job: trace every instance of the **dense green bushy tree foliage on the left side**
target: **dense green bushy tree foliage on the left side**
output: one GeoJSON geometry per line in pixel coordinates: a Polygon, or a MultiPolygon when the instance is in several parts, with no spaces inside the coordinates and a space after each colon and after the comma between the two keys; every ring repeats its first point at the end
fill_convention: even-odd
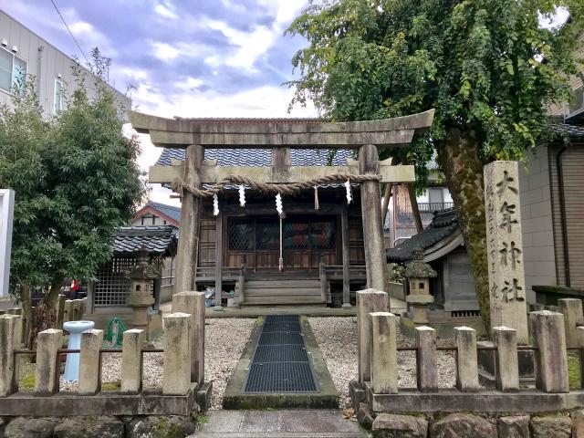
{"type": "Polygon", "coordinates": [[[97,49],[93,55],[95,83],[86,86],[86,73],[74,68],[74,91],[60,114],[43,113],[34,78],[19,84],[12,107],[0,108],[0,187],[16,191],[16,295],[21,287],[55,291],[65,277],[94,276],[144,193],[138,142],[122,134],[121,109],[103,80],[110,61],[97,49]]]}

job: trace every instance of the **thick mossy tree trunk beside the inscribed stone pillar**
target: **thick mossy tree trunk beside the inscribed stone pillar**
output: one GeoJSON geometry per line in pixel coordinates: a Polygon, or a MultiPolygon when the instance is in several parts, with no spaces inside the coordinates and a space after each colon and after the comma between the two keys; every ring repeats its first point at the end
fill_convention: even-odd
{"type": "Polygon", "coordinates": [[[436,144],[438,162],[452,194],[458,224],[473,268],[474,288],[485,330],[490,333],[489,278],[486,254],[485,183],[481,143],[474,130],[448,128],[436,144]]]}

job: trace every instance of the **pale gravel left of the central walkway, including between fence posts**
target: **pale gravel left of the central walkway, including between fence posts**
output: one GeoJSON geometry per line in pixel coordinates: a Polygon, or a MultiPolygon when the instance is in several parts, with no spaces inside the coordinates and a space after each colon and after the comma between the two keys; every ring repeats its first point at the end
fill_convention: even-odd
{"type": "MultiPolygon", "coordinates": [[[[221,409],[227,381],[233,374],[237,361],[249,339],[255,319],[248,318],[209,318],[205,323],[205,378],[213,382],[211,409],[221,409]]],[[[154,341],[154,348],[162,349],[163,335],[154,341]]],[[[110,348],[109,345],[104,345],[110,348]]],[[[144,354],[144,388],[162,387],[163,353],[144,354]]],[[[19,367],[19,381],[24,389],[26,378],[35,373],[35,365],[23,360],[19,367]]],[[[105,353],[102,356],[101,381],[110,390],[118,389],[121,379],[121,354],[105,353]]],[[[32,381],[34,385],[34,379],[32,381]]],[[[28,390],[30,391],[30,389],[28,390]]],[[[67,382],[61,377],[60,391],[77,391],[77,382],[67,382]]]]}

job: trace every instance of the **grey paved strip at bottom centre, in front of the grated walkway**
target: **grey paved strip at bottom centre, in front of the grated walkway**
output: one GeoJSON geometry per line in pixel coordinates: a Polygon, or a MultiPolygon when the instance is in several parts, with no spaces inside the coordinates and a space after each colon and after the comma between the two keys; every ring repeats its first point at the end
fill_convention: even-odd
{"type": "Polygon", "coordinates": [[[366,438],[338,410],[211,411],[192,438],[366,438]]]}

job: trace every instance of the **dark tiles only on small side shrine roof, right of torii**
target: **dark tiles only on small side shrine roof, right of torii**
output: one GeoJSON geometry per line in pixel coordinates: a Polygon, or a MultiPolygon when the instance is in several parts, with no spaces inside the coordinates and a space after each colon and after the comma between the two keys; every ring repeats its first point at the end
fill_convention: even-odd
{"type": "Polygon", "coordinates": [[[447,208],[434,212],[432,223],[422,233],[413,235],[410,239],[386,250],[387,261],[391,263],[403,263],[412,258],[414,249],[422,250],[437,244],[443,238],[458,233],[458,218],[454,208],[447,208]]]}

